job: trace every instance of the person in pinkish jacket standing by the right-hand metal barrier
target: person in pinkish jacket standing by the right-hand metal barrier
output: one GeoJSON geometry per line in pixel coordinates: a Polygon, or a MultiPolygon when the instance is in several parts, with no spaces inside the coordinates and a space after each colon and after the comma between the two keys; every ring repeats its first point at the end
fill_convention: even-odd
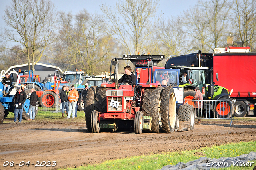
{"type": "MultiPolygon", "coordinates": [[[[194,100],[199,100],[199,101],[196,101],[195,104],[194,104],[194,108],[196,108],[196,115],[198,117],[201,117],[202,116],[202,108],[203,108],[203,94],[201,93],[201,91],[199,90],[199,87],[197,86],[196,89],[195,89],[196,93],[195,93],[195,97],[194,97],[194,100]]],[[[197,125],[201,125],[201,119],[198,119],[197,121],[197,125]]]]}

